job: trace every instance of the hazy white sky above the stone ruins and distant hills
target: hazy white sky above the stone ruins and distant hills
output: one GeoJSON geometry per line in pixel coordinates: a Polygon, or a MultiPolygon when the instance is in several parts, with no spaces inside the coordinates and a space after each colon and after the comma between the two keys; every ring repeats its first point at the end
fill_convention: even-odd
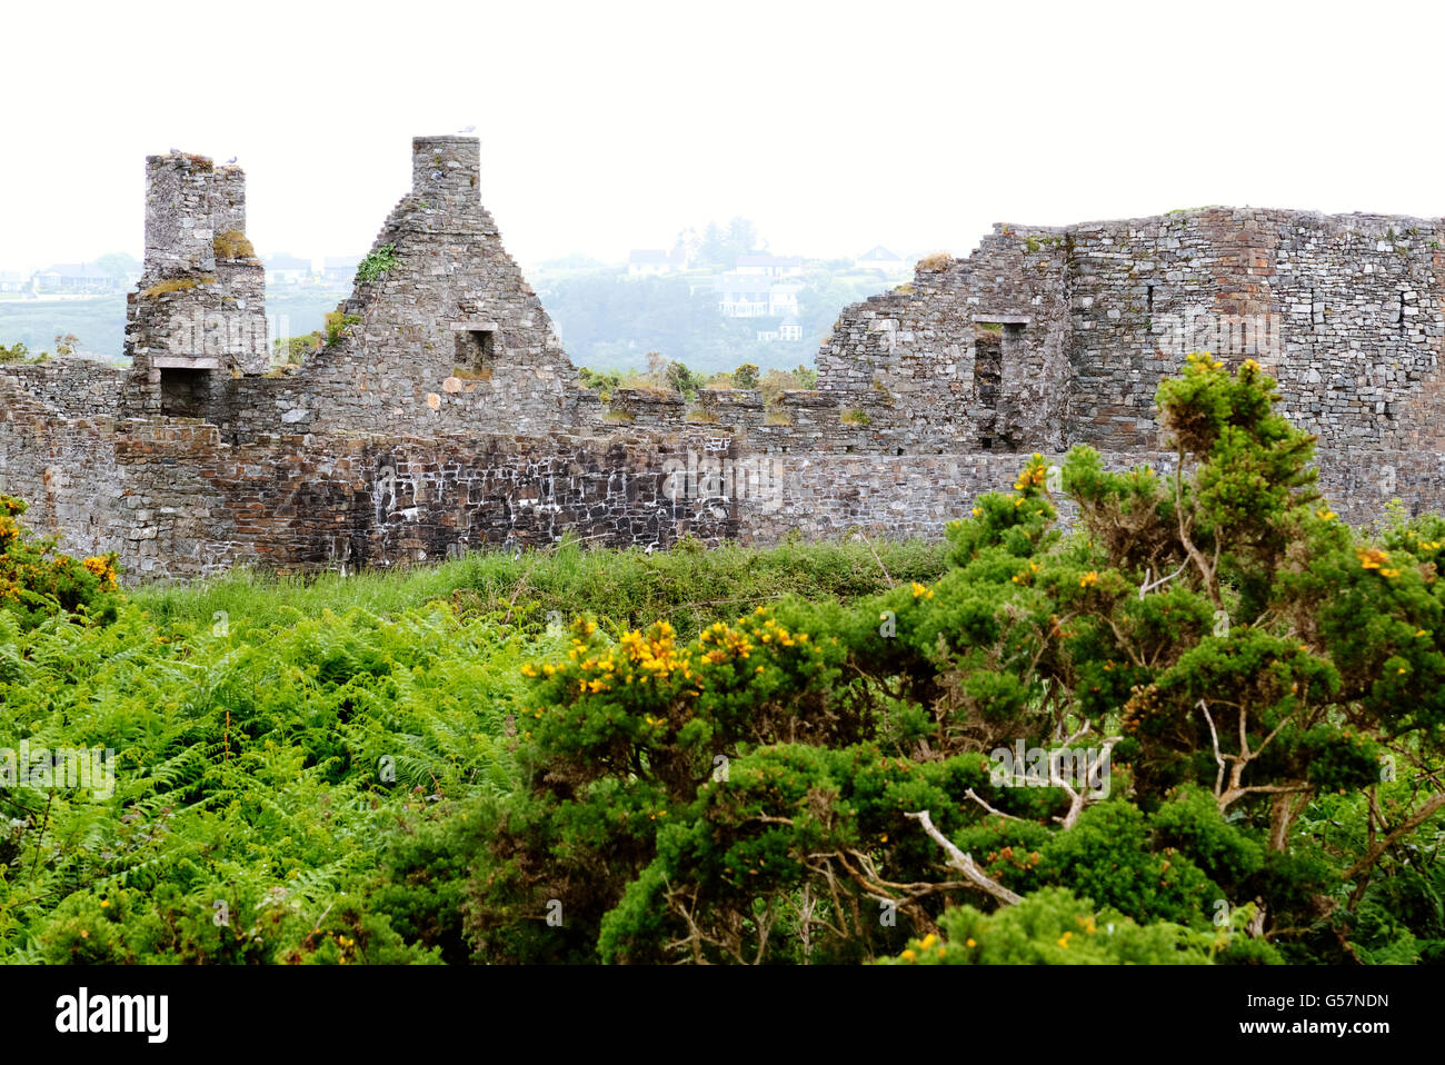
{"type": "Polygon", "coordinates": [[[523,262],[751,217],[772,250],[971,250],[1204,204],[1439,215],[1441,7],[9,4],[0,267],[142,250],[144,156],[249,175],[263,253],[360,253],[410,137],[474,124],[523,262]]]}

